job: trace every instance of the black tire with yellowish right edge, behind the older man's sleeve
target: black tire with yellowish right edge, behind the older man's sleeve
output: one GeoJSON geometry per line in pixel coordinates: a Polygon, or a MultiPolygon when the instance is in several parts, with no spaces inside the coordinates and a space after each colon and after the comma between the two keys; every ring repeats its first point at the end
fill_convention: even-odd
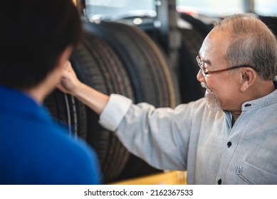
{"type": "MultiPolygon", "coordinates": [[[[85,30],[107,41],[119,55],[130,75],[135,102],[148,102],[155,107],[179,104],[177,78],[167,65],[164,54],[146,33],[123,23],[85,21],[85,30]]],[[[137,156],[130,155],[117,180],[157,173],[137,156]]]]}

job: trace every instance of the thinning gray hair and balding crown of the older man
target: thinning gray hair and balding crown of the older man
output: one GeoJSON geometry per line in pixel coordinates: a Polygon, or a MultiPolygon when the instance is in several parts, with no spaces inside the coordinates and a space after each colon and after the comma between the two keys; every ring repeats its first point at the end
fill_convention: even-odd
{"type": "Polygon", "coordinates": [[[261,20],[250,14],[236,14],[214,25],[217,31],[226,31],[229,47],[226,60],[230,67],[249,65],[263,80],[277,75],[277,41],[261,20]]]}

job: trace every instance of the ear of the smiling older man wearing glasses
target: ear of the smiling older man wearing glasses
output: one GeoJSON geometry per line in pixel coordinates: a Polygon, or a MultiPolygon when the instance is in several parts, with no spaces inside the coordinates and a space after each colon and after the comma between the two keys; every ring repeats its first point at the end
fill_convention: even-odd
{"type": "Polygon", "coordinates": [[[241,92],[244,92],[254,84],[256,80],[256,71],[253,68],[244,68],[241,73],[241,92]]]}

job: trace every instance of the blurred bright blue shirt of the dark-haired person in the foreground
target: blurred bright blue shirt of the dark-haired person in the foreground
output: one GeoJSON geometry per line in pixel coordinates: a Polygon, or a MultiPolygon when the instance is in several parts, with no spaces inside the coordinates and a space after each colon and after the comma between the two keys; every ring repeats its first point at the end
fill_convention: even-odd
{"type": "Polygon", "coordinates": [[[31,97],[0,86],[0,184],[98,184],[95,153],[31,97]]]}

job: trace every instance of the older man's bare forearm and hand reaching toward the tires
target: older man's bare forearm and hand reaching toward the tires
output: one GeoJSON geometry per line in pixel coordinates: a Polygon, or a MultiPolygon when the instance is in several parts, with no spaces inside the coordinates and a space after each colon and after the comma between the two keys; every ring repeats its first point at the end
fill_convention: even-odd
{"type": "Polygon", "coordinates": [[[83,82],[80,82],[69,61],[68,65],[66,65],[66,68],[63,70],[61,83],[57,85],[57,87],[62,92],[77,97],[97,114],[103,112],[103,109],[109,100],[108,95],[104,95],[103,93],[94,90],[92,87],[85,85],[83,82]]]}

